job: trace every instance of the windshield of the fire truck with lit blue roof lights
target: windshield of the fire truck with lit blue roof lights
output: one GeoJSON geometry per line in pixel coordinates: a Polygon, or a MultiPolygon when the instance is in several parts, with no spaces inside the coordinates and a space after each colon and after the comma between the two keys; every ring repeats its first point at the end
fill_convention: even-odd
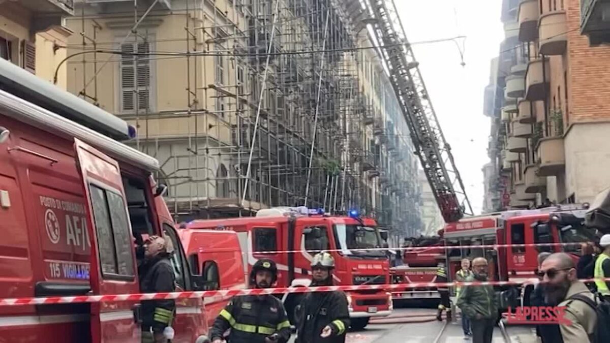
{"type": "Polygon", "coordinates": [[[361,225],[335,225],[337,244],[343,255],[385,257],[383,251],[358,251],[354,249],[381,248],[381,239],[377,229],[361,225]],[[354,250],[354,251],[353,251],[354,250]]]}

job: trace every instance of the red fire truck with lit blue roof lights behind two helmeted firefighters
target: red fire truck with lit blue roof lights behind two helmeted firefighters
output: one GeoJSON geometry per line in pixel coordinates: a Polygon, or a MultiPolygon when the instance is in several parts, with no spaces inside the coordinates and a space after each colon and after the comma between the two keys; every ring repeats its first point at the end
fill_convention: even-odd
{"type": "MultiPolygon", "coordinates": [[[[389,262],[384,251],[354,250],[379,248],[384,240],[374,220],[358,218],[357,214],[331,217],[307,208],[270,208],[260,210],[256,217],[195,220],[188,223],[188,228],[237,232],[244,269],[251,270],[258,259],[273,259],[278,264],[280,287],[309,286],[310,261],[316,251],[322,250],[331,250],[335,259],[335,284],[388,282],[389,262]]],[[[299,298],[298,294],[283,298],[292,322],[299,298]]],[[[348,301],[353,328],[364,328],[370,317],[389,316],[392,312],[391,296],[385,291],[348,292],[348,301]]]]}

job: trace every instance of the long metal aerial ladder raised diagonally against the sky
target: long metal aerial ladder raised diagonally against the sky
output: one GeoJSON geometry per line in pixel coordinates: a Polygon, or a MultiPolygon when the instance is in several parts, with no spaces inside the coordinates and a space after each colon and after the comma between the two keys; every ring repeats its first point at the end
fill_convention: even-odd
{"type": "Polygon", "coordinates": [[[394,1],[365,0],[364,3],[373,19],[378,53],[411,131],[415,154],[420,157],[445,222],[455,222],[465,214],[472,215],[464,182],[440,129],[394,1]]]}

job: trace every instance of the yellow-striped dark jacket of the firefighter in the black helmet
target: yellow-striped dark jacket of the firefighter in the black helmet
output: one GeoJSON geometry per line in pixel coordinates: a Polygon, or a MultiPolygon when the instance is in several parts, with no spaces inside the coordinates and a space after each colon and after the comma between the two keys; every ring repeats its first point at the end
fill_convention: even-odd
{"type": "Polygon", "coordinates": [[[220,311],[210,338],[222,338],[231,329],[231,343],[264,343],[267,336],[279,335],[279,343],[290,339],[290,322],[282,301],[273,295],[240,295],[233,297],[220,311]]]}

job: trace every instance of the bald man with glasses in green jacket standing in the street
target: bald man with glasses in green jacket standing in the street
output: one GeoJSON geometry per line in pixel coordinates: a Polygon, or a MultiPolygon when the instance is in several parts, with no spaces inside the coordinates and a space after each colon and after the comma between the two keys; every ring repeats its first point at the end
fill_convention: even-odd
{"type": "MultiPolygon", "coordinates": [[[[487,281],[487,260],[472,261],[472,276],[466,282],[487,281]]],[[[473,343],[491,343],[493,327],[498,316],[498,304],[493,286],[465,286],[458,298],[458,307],[470,320],[473,343]]]]}

